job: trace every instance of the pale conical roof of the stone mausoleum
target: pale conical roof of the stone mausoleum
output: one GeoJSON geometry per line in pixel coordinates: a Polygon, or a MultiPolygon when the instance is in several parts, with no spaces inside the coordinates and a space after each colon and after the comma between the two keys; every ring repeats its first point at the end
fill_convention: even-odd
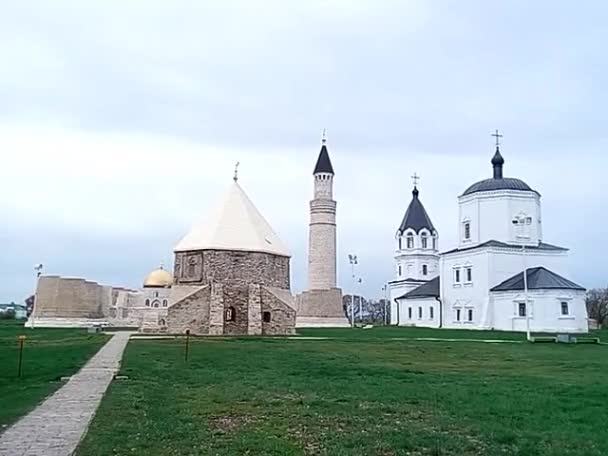
{"type": "Polygon", "coordinates": [[[290,256],[287,246],[236,181],[221,204],[175,247],[176,252],[188,250],[242,250],[290,256]]]}

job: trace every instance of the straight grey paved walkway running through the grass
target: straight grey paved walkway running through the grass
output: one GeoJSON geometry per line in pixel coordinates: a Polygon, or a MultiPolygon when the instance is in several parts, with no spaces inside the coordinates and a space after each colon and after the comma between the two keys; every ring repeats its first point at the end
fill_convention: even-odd
{"type": "Polygon", "coordinates": [[[118,371],[129,332],[116,333],[64,386],[0,435],[0,456],[69,456],[118,371]]]}

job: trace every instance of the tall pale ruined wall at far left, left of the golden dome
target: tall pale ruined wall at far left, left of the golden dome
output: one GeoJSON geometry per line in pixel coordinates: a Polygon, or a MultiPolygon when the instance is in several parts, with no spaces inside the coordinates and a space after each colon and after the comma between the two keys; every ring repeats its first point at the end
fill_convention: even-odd
{"type": "Polygon", "coordinates": [[[38,279],[34,316],[102,318],[111,302],[110,287],[84,279],[42,276],[38,279]]]}

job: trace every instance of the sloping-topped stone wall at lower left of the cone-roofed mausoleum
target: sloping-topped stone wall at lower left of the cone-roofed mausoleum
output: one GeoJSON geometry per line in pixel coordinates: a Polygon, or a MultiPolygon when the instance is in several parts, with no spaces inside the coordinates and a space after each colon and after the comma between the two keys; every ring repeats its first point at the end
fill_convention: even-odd
{"type": "Polygon", "coordinates": [[[204,286],[169,307],[166,327],[171,334],[209,334],[211,286],[204,286]]]}

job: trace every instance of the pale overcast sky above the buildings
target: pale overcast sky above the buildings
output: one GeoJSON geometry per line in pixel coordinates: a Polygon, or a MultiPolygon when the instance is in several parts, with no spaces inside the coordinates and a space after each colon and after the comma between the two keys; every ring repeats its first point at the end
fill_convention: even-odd
{"type": "Polygon", "coordinates": [[[139,286],[231,183],[306,283],[323,128],[339,279],[393,279],[410,176],[456,245],[457,196],[505,175],[543,195],[571,279],[606,286],[608,6],[571,1],[28,1],[0,14],[0,301],[45,272],[139,286]]]}

